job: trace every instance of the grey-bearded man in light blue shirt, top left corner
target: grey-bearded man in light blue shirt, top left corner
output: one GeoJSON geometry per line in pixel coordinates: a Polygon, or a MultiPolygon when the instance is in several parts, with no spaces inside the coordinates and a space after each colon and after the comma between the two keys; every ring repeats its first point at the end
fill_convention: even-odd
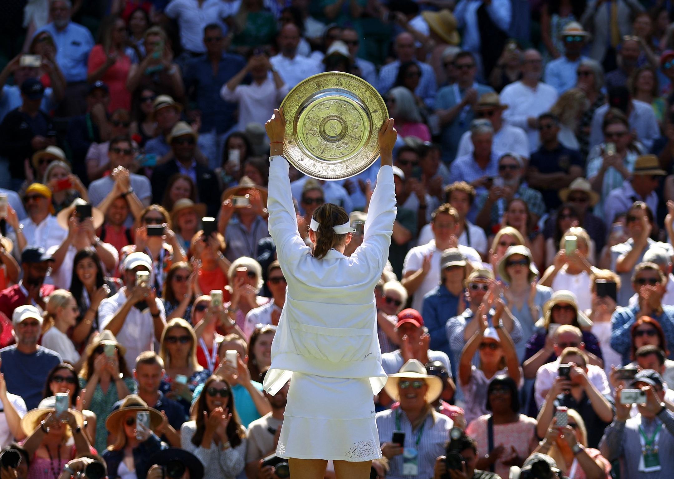
{"type": "Polygon", "coordinates": [[[87,88],[87,62],[94,48],[94,37],[87,28],[70,21],[71,0],[51,0],[49,13],[52,22],[40,28],[36,34],[49,32],[56,44],[56,62],[68,83],[61,113],[66,117],[82,115],[86,110],[84,94],[87,88]]]}

